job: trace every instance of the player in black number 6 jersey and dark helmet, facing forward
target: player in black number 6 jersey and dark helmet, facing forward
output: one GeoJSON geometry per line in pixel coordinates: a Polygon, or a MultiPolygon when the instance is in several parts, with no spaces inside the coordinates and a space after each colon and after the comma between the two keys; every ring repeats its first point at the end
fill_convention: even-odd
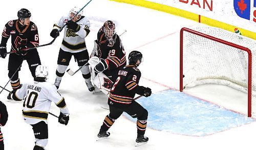
{"type": "MultiPolygon", "coordinates": [[[[8,76],[11,79],[11,85],[13,90],[17,90],[20,87],[20,80],[18,67],[23,63],[23,60],[27,60],[30,72],[35,78],[35,69],[38,65],[41,65],[40,57],[36,49],[26,51],[28,48],[33,48],[39,45],[39,37],[36,25],[30,21],[31,13],[29,10],[23,8],[17,13],[18,19],[10,20],[4,27],[2,33],[2,40],[0,44],[0,56],[6,57],[6,44],[11,36],[11,53],[9,55],[8,63],[8,76]],[[15,74],[14,74],[15,73],[15,74]],[[13,77],[12,77],[13,76],[13,77]]],[[[10,94],[7,97],[10,99],[10,94]]]]}

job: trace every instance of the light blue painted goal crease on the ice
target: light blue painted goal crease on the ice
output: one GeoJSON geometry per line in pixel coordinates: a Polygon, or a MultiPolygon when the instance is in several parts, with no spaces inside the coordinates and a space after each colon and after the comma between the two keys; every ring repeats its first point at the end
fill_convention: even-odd
{"type": "MultiPolygon", "coordinates": [[[[147,126],[188,136],[207,136],[256,121],[175,90],[165,90],[137,100],[147,111],[147,126]]],[[[136,121],[126,113],[126,118],[136,121]]]]}

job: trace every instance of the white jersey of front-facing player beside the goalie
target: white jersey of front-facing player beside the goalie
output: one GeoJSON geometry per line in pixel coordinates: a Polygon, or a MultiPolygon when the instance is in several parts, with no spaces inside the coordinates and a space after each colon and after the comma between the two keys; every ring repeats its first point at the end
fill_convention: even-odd
{"type": "MultiPolygon", "coordinates": [[[[66,25],[68,20],[70,20],[69,16],[62,16],[53,28],[60,29],[66,25]]],[[[87,50],[84,38],[89,34],[87,31],[90,31],[90,22],[86,17],[81,16],[76,23],[80,26],[78,32],[67,28],[67,26],[64,27],[64,37],[60,47],[63,51],[77,53],[87,50]]]]}

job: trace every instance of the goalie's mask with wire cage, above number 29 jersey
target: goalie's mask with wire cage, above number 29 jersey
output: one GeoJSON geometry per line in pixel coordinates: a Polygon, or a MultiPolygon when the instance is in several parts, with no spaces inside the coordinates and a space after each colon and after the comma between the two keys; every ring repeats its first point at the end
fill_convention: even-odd
{"type": "Polygon", "coordinates": [[[111,20],[108,20],[104,23],[102,28],[103,28],[103,31],[105,33],[106,39],[108,39],[108,41],[109,41],[108,46],[113,47],[113,45],[116,42],[116,31],[115,31],[116,27],[115,27],[115,24],[111,20]]]}

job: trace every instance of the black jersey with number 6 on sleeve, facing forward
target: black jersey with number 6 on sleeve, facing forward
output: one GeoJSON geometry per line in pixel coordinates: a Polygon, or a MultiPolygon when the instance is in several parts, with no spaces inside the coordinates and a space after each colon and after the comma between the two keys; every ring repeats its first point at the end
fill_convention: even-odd
{"type": "Polygon", "coordinates": [[[22,45],[27,46],[28,48],[33,48],[39,45],[37,27],[33,22],[30,22],[28,26],[22,26],[17,19],[10,20],[4,27],[1,46],[6,46],[10,36],[12,51],[16,51],[17,48],[22,45]]]}

